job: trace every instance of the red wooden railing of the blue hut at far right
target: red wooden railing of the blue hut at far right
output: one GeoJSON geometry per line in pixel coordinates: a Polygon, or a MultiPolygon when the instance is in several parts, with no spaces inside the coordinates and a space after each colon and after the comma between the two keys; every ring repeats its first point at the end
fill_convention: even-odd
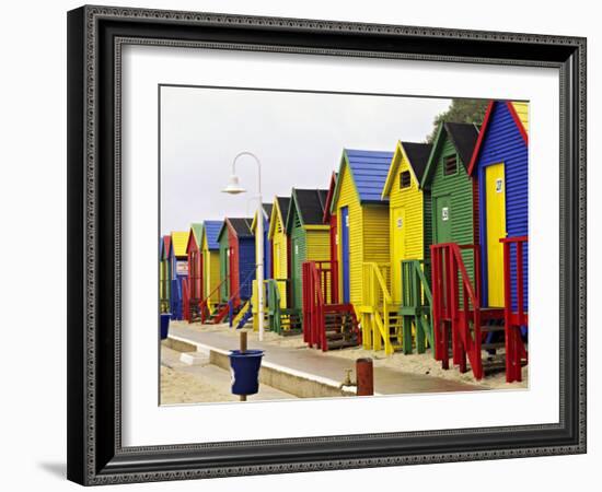
{"type": "Polygon", "coordinates": [[[508,383],[522,380],[521,362],[528,359],[526,349],[521,337],[521,327],[529,326],[524,298],[523,248],[529,243],[529,236],[506,237],[499,239],[503,244],[503,319],[506,331],[506,380],[508,383]],[[512,306],[512,245],[516,248],[516,298],[517,309],[512,306]]]}

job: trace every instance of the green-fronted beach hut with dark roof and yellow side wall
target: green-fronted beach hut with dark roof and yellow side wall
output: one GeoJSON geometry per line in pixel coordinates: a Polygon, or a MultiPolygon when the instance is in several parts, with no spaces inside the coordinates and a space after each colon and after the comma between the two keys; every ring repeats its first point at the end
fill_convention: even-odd
{"type": "Polygon", "coordinates": [[[324,224],[327,189],[292,188],[287,216],[290,236],[291,308],[301,311],[303,303],[302,263],[306,260],[328,261],[329,226],[324,224]]]}

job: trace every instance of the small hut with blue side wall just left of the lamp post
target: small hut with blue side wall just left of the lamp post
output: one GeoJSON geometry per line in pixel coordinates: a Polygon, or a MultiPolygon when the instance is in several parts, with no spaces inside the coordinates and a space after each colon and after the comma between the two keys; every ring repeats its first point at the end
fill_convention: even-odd
{"type": "Polygon", "coordinates": [[[221,300],[232,301],[236,308],[241,301],[251,298],[255,279],[255,236],[252,218],[225,218],[218,234],[220,270],[225,289],[221,300]]]}

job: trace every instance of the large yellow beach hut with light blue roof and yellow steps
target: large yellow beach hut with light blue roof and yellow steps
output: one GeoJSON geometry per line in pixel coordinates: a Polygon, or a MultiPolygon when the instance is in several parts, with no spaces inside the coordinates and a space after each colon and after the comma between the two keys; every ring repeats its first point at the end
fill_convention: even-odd
{"type": "Polygon", "coordinates": [[[345,149],[331,206],[337,215],[339,296],[362,325],[364,348],[393,352],[395,308],[389,293],[389,200],[382,190],[393,152],[345,149]],[[380,306],[380,307],[379,307],[380,306]]]}

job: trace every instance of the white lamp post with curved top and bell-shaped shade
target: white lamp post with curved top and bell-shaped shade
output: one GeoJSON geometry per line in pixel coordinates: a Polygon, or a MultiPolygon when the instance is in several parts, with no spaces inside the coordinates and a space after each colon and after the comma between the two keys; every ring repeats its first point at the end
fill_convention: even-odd
{"type": "Polygon", "coordinates": [[[240,157],[252,157],[257,164],[257,192],[259,206],[257,208],[257,238],[255,241],[255,265],[257,279],[257,316],[259,328],[259,341],[264,339],[264,206],[262,200],[262,163],[257,156],[251,152],[240,152],[232,161],[232,174],[228,186],[222,190],[224,194],[238,195],[243,194],[246,190],[241,187],[239,183],[239,176],[236,175],[236,161],[240,157]]]}

